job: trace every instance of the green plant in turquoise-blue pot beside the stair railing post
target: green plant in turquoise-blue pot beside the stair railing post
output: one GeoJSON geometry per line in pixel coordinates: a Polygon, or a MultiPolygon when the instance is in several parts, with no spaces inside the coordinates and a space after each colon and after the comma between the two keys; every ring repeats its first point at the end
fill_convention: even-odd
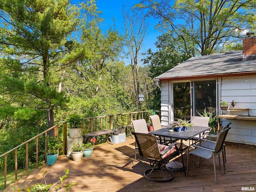
{"type": "Polygon", "coordinates": [[[58,158],[59,148],[62,146],[62,141],[56,137],[47,136],[47,164],[53,165],[58,158]]]}

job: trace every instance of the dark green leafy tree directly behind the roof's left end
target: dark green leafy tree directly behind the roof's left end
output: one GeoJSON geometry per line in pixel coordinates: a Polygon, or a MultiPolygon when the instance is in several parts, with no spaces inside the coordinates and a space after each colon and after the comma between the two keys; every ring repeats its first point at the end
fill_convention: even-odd
{"type": "MultiPolygon", "coordinates": [[[[170,70],[174,66],[184,62],[190,55],[182,47],[182,38],[175,36],[169,32],[158,36],[155,43],[157,51],[152,52],[151,49],[145,54],[144,64],[148,65],[148,75],[151,79],[156,76],[170,70]]],[[[194,52],[194,47],[190,46],[189,52],[194,52]]],[[[160,89],[152,84],[152,88],[149,89],[148,95],[150,101],[148,102],[148,108],[160,110],[161,102],[160,89]]]]}

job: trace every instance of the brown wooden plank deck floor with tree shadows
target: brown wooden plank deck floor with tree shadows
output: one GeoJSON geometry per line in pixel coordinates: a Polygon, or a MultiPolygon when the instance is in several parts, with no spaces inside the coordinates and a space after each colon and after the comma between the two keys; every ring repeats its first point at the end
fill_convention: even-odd
{"type": "MultiPolygon", "coordinates": [[[[64,175],[68,168],[70,172],[64,182],[78,182],[77,186],[70,187],[70,192],[228,192],[242,191],[242,187],[254,187],[256,190],[256,146],[227,143],[226,174],[217,170],[216,184],[212,159],[202,160],[200,168],[195,168],[192,166],[193,158],[190,158],[189,176],[186,177],[184,172],[179,172],[175,173],[175,178],[171,182],[150,182],[143,177],[149,163],[142,159],[133,159],[133,144],[134,139],[127,138],[124,143],[95,146],[92,157],[83,158],[80,162],[74,162],[63,155],[59,156],[53,166],[44,166],[36,175],[30,176],[30,186],[35,182],[42,182],[44,171],[47,172],[46,182],[50,184],[64,175]]],[[[176,160],[181,162],[180,157],[176,160]]],[[[186,155],[184,161],[187,162],[186,155]]],[[[60,191],[66,189],[62,188],[60,191]]]]}

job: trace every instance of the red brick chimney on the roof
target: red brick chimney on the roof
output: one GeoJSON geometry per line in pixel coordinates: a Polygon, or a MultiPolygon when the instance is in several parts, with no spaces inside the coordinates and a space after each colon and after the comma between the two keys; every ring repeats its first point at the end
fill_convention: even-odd
{"type": "Polygon", "coordinates": [[[247,32],[243,39],[243,61],[256,59],[256,37],[254,32],[247,32]]]}

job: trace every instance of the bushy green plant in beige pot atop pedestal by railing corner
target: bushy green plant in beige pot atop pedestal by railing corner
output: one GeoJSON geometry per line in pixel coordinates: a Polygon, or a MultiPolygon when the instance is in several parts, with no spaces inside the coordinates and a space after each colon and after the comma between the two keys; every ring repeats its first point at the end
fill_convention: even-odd
{"type": "Polygon", "coordinates": [[[83,118],[80,114],[71,114],[67,122],[69,123],[69,136],[72,139],[80,138],[82,135],[83,118]]]}

